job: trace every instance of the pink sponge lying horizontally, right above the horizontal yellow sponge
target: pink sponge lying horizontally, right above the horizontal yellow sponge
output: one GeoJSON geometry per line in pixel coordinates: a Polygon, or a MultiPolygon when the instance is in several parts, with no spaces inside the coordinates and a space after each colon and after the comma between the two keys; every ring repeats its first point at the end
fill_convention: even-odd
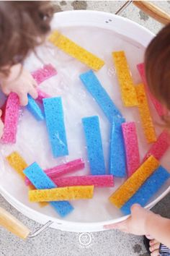
{"type": "Polygon", "coordinates": [[[112,175],[89,175],[89,176],[70,176],[53,179],[58,187],[70,186],[90,186],[94,187],[113,187],[112,175]]]}

